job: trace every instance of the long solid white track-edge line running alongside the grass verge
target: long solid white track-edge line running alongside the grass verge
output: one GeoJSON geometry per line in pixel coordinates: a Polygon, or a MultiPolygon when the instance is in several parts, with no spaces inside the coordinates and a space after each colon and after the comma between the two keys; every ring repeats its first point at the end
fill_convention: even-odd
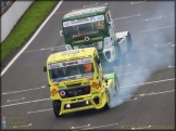
{"type": "Polygon", "coordinates": [[[24,52],[24,50],[32,43],[32,41],[36,38],[36,36],[39,34],[39,31],[42,29],[42,27],[46,25],[46,23],[50,19],[50,17],[55,13],[55,11],[60,8],[63,0],[61,0],[55,9],[51,12],[51,14],[46,18],[46,21],[40,25],[40,27],[37,29],[37,31],[34,34],[34,36],[30,38],[30,40],[25,44],[25,47],[13,57],[13,60],[5,66],[5,68],[1,71],[1,76],[9,69],[9,67],[17,60],[17,57],[24,52]]]}

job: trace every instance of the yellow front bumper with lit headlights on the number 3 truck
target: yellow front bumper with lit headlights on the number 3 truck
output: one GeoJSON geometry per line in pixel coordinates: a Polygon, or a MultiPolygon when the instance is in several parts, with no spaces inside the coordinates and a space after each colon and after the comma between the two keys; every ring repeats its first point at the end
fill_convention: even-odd
{"type": "Polygon", "coordinates": [[[105,105],[106,101],[105,92],[83,96],[81,99],[73,97],[70,101],[62,101],[60,115],[90,108],[99,109],[105,105]]]}

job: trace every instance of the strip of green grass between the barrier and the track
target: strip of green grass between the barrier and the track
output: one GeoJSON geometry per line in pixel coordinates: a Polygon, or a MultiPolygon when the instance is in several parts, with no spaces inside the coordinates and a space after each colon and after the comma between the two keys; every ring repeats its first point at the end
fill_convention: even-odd
{"type": "Polygon", "coordinates": [[[16,48],[22,47],[29,40],[56,3],[58,1],[55,0],[35,1],[30,9],[22,16],[9,37],[1,43],[1,63],[16,48]]]}

